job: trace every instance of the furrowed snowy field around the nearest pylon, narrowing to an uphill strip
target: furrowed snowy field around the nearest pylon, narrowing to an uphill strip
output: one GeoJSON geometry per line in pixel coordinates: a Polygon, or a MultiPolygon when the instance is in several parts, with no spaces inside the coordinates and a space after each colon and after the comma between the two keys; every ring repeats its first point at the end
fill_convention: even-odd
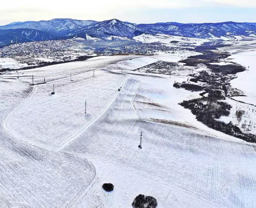
{"type": "MultiPolygon", "coordinates": [[[[195,195],[194,200],[205,199],[212,207],[253,207],[256,155],[252,145],[138,120],[132,99],[139,83],[128,78],[109,110],[62,150],[162,181],[195,195]]],[[[160,203],[167,207],[164,200],[160,203]]]]}

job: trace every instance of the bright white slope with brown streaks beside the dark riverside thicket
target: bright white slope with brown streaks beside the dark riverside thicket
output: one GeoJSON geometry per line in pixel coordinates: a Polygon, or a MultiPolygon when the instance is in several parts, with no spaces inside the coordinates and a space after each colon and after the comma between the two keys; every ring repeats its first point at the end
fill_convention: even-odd
{"type": "MultiPolygon", "coordinates": [[[[152,74],[153,75],[153,74],[152,74]]],[[[137,76],[138,78],[138,76],[137,76]]],[[[177,126],[185,126],[195,131],[214,135],[216,137],[230,139],[222,132],[208,128],[195,119],[195,115],[189,109],[184,109],[179,102],[200,98],[200,92],[190,92],[185,89],[177,89],[173,86],[174,82],[186,81],[184,76],[144,76],[133,99],[138,118],[166,123],[177,126]]],[[[238,140],[236,138],[232,138],[238,140]]]]}

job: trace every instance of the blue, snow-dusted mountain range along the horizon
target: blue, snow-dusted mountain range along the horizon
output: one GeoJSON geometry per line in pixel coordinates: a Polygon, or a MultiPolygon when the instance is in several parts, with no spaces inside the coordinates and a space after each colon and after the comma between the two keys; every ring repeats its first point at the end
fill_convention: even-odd
{"type": "Polygon", "coordinates": [[[133,24],[118,19],[102,22],[77,19],[13,22],[0,26],[0,46],[16,42],[55,40],[74,36],[103,40],[110,40],[113,37],[132,39],[141,34],[155,35],[157,33],[210,40],[232,40],[236,35],[256,37],[256,23],[133,24]]]}

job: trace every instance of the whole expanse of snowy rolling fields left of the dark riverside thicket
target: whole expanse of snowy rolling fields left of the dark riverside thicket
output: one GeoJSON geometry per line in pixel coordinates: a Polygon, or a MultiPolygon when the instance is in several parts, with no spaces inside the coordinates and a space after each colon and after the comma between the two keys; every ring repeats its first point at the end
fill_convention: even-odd
{"type": "Polygon", "coordinates": [[[138,194],[160,208],[255,207],[255,145],[179,106],[198,96],[173,87],[187,77],[129,71],[151,59],[95,57],[0,76],[1,207],[128,208],[138,194]],[[28,86],[32,73],[48,83],[28,86]]]}

